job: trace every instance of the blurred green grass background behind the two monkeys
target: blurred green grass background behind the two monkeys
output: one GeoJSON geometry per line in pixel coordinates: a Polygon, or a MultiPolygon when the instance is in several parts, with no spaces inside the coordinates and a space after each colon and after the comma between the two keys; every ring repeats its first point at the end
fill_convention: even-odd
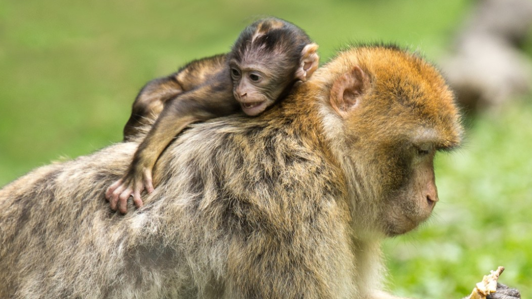
{"type": "MultiPolygon", "coordinates": [[[[0,186],[119,142],[145,82],[227,52],[260,16],[305,29],[322,62],[351,41],[394,42],[438,61],[471,7],[466,0],[2,1],[0,186]]],[[[465,145],[438,156],[435,215],[385,244],[393,293],[458,299],[504,265],[501,280],[532,294],[531,99],[467,121],[465,145]]]]}

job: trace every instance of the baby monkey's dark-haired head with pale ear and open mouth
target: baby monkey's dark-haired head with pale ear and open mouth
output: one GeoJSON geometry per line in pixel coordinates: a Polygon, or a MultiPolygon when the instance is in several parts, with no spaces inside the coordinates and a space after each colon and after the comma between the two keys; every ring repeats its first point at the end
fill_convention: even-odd
{"type": "Polygon", "coordinates": [[[246,27],[229,53],[233,94],[247,115],[285,96],[318,68],[318,45],[301,28],[276,18],[246,27]]]}

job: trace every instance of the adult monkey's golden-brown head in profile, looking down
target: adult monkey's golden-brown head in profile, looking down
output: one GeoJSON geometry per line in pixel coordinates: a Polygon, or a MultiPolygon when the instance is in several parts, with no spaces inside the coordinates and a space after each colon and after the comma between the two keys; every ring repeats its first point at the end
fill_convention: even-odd
{"type": "Polygon", "coordinates": [[[462,135],[445,80],[394,46],[352,48],[314,77],[332,83],[325,132],[347,170],[354,222],[387,236],[417,227],[438,201],[434,156],[462,135]]]}

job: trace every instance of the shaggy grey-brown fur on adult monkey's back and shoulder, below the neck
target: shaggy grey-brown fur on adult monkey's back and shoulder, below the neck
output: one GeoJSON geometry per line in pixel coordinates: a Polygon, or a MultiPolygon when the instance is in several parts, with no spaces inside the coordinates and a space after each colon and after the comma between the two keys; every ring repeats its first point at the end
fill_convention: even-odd
{"type": "MultiPolygon", "coordinates": [[[[143,209],[130,206],[123,217],[109,210],[104,192],[126,169],[135,143],[48,165],[6,186],[0,191],[0,281],[7,284],[0,286],[0,297],[254,297],[261,291],[236,292],[231,281],[240,282],[237,276],[252,259],[281,253],[295,254],[275,257],[287,265],[312,265],[301,273],[276,269],[286,275],[280,280],[285,285],[276,277],[272,288],[287,288],[294,297],[339,297],[332,293],[346,287],[352,294],[350,278],[342,275],[353,270],[342,263],[352,260],[348,223],[313,234],[315,226],[344,212],[328,179],[334,177],[330,165],[297,136],[279,131],[257,137],[261,130],[251,126],[248,119],[223,119],[188,131],[165,153],[164,167],[159,164],[164,180],[143,209]],[[267,144],[255,156],[243,154],[247,146],[267,144]],[[307,234],[294,236],[300,229],[307,234]],[[268,242],[277,243],[279,252],[268,252],[268,242]],[[242,256],[230,258],[237,252],[242,256]],[[241,264],[228,264],[231,259],[241,264]],[[311,268],[319,272],[305,273],[311,268]]],[[[257,267],[275,265],[265,259],[257,267]]]]}

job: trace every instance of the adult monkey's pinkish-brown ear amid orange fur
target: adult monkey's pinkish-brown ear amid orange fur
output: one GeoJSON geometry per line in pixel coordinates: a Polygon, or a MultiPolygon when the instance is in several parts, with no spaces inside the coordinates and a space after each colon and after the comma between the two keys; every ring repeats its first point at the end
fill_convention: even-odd
{"type": "Polygon", "coordinates": [[[358,66],[342,74],[332,84],[329,101],[332,109],[345,118],[353,110],[369,88],[368,76],[358,66]]]}

